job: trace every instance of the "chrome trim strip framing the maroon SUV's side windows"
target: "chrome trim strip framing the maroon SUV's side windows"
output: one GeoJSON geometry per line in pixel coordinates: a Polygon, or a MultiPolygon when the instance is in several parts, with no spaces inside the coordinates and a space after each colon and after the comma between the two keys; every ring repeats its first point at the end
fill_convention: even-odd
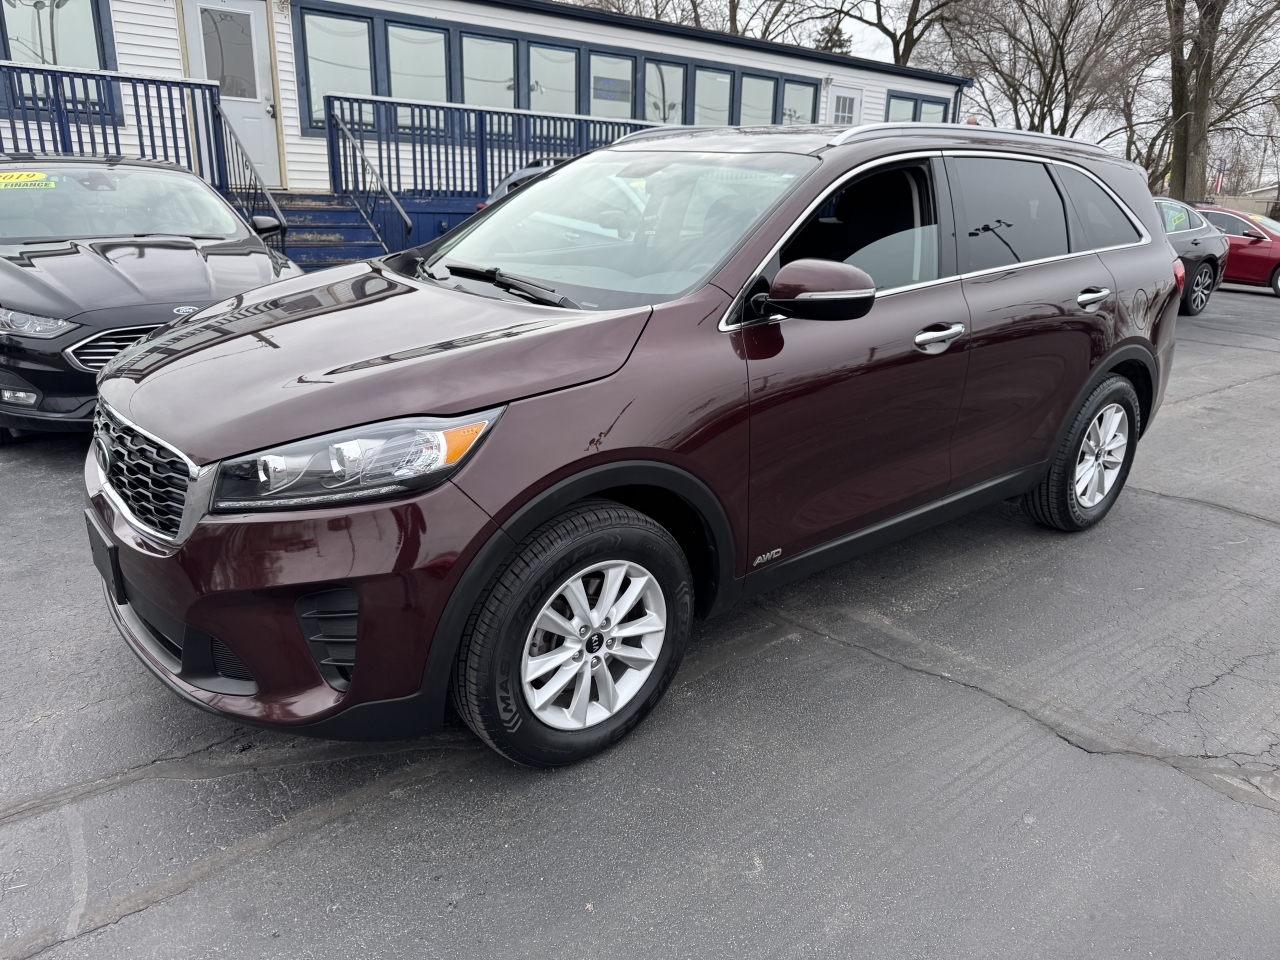
{"type": "MultiPolygon", "coordinates": [[[[887,124],[887,125],[896,127],[901,124],[887,124]]],[[[854,131],[846,131],[846,133],[852,133],[852,132],[854,131]]],[[[1034,154],[1015,154],[1000,150],[964,150],[964,148],[914,150],[906,154],[895,154],[892,156],[883,156],[876,160],[868,160],[865,164],[855,166],[852,170],[844,174],[840,179],[835,180],[829,187],[827,187],[826,191],[818,195],[817,200],[814,200],[812,204],[809,204],[809,206],[804,209],[804,212],[801,212],[800,216],[796,218],[796,220],[791,224],[791,227],[788,227],[787,230],[782,234],[782,239],[780,239],[776,244],[773,244],[773,247],[769,250],[769,255],[764,260],[762,260],[760,265],[756,266],[755,270],[751,273],[751,279],[760,275],[764,268],[768,266],[769,261],[778,255],[782,247],[787,244],[787,241],[790,241],[791,237],[795,236],[796,230],[801,227],[801,224],[804,224],[805,220],[809,219],[809,216],[814,212],[814,210],[818,210],[823,204],[826,204],[827,200],[831,197],[831,195],[835,193],[841,187],[844,187],[849,180],[861,175],[863,173],[867,173],[868,170],[872,170],[877,166],[883,166],[886,164],[899,163],[901,160],[923,160],[936,156],[954,156],[954,157],[980,156],[980,157],[993,157],[998,160],[1021,160],[1024,163],[1033,163],[1033,164],[1056,164],[1057,166],[1068,166],[1073,170],[1083,173],[1091,180],[1102,187],[1106,195],[1111,197],[1112,202],[1115,202],[1115,205],[1120,207],[1120,212],[1123,212],[1129,219],[1129,223],[1138,230],[1139,238],[1132,243],[1116,243],[1110,247],[1089,247],[1088,250],[1074,250],[1069,253],[1057,253],[1051,257],[1041,257],[1039,260],[1023,260],[1016,264],[1005,264],[1004,266],[988,266],[982,270],[972,270],[969,273],[952,274],[951,276],[940,276],[936,280],[923,280],[922,283],[913,283],[905,287],[890,287],[883,291],[876,291],[877,298],[891,297],[899,293],[908,293],[910,291],[924,289],[925,287],[937,287],[943,283],[952,283],[955,280],[970,280],[975,276],[1007,273],[1010,270],[1016,270],[1024,266],[1038,266],[1041,264],[1052,264],[1060,260],[1075,260],[1076,257],[1089,256],[1091,253],[1108,253],[1114,250],[1128,250],[1129,247],[1142,247],[1151,243],[1151,233],[1147,230],[1142,220],[1139,220],[1138,216],[1133,212],[1133,210],[1129,209],[1129,205],[1125,204],[1116,195],[1114,189],[1111,189],[1106,183],[1103,183],[1101,178],[1085,170],[1079,164],[1074,164],[1069,160],[1059,160],[1057,157],[1037,156],[1034,154]]],[[[750,280],[742,284],[742,289],[739,291],[737,296],[733,297],[732,302],[730,302],[728,305],[728,308],[721,316],[719,324],[717,325],[717,329],[721,333],[732,333],[733,330],[739,330],[742,326],[749,325],[749,324],[730,323],[730,317],[735,314],[735,311],[737,311],[739,306],[742,302],[742,297],[746,293],[749,283],[750,280]]]]}

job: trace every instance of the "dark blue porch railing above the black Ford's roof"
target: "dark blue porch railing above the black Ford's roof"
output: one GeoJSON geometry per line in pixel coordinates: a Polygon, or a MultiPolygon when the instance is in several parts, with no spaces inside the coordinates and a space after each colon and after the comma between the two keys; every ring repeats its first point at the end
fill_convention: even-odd
{"type": "Polygon", "coordinates": [[[166,160],[225,191],[218,100],[212,81],[0,60],[0,152],[166,160]]]}

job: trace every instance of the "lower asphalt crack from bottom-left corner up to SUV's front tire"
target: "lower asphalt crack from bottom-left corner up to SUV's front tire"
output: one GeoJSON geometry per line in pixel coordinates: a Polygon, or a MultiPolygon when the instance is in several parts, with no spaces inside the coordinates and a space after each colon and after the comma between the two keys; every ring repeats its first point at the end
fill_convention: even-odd
{"type": "Polygon", "coordinates": [[[111,927],[128,916],[172,900],[179,893],[191,890],[197,883],[215,877],[250,858],[264,854],[288,840],[326,827],[397,788],[434,777],[460,759],[475,762],[476,756],[481,755],[479,746],[480,744],[476,742],[475,750],[458,751],[452,756],[433,758],[381,776],[342,796],[316,804],[284,823],[223,847],[218,852],[197,860],[186,869],[172,873],[164,879],[133,890],[101,906],[86,909],[74,931],[68,929],[68,924],[65,923],[56,923],[33,931],[24,937],[3,941],[0,942],[0,960],[29,960],[52,950],[59,943],[78,940],[104,927],[111,927]]]}

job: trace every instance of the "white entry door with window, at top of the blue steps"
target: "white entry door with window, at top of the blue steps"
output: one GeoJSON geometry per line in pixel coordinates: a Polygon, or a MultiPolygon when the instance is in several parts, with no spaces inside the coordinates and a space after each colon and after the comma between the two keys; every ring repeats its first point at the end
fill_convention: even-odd
{"type": "Polygon", "coordinates": [[[279,187],[275,86],[266,18],[266,0],[183,0],[192,74],[218,81],[223,111],[259,177],[268,187],[279,187]]]}

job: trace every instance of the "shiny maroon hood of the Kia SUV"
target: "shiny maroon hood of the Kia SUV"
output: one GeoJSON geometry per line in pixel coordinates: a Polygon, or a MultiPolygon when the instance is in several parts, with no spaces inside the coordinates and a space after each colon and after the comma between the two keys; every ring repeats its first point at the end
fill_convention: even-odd
{"type": "Polygon", "coordinates": [[[111,361],[99,390],[123,416],[207,463],[608,376],[649,314],[494,300],[352,264],[164,328],[111,361]]]}

